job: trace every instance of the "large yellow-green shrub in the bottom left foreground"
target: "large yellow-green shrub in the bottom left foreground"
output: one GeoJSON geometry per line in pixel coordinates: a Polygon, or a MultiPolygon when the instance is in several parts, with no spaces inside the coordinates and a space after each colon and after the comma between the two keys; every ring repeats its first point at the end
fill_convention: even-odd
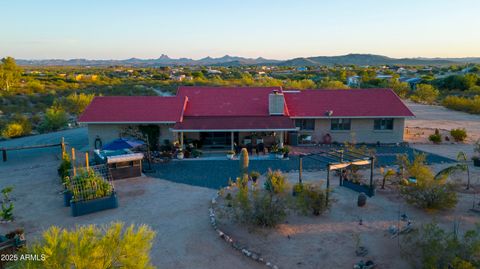
{"type": "Polygon", "coordinates": [[[125,227],[115,222],[74,230],[50,227],[24,253],[45,255],[43,261],[23,259],[15,268],[136,268],[153,269],[150,250],[155,232],[147,225],[125,227]]]}

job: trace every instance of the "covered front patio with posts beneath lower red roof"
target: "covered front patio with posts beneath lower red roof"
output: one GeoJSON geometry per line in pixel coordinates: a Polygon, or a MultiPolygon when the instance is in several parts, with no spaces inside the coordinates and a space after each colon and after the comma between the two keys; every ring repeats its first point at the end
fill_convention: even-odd
{"type": "Polygon", "coordinates": [[[186,117],[172,128],[182,148],[187,140],[199,141],[203,150],[262,153],[273,145],[283,147],[286,132],[297,131],[293,120],[268,117],[186,117]]]}

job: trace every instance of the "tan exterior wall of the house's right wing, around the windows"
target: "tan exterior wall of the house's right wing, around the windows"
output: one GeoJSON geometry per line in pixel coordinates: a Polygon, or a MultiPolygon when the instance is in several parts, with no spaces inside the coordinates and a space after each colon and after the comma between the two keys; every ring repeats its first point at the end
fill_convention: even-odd
{"type": "Polygon", "coordinates": [[[315,142],[322,142],[325,134],[330,134],[332,142],[343,143],[356,141],[356,143],[400,143],[403,142],[405,119],[395,118],[393,130],[374,130],[374,119],[352,119],[349,131],[330,130],[329,119],[316,119],[315,130],[300,131],[299,134],[311,134],[315,142]]]}

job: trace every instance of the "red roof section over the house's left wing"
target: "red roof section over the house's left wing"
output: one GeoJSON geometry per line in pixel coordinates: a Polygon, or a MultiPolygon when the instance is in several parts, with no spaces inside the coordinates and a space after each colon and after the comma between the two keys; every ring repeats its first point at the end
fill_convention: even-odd
{"type": "Polygon", "coordinates": [[[178,122],[184,98],[160,96],[95,97],[79,118],[79,122],[178,122]]]}

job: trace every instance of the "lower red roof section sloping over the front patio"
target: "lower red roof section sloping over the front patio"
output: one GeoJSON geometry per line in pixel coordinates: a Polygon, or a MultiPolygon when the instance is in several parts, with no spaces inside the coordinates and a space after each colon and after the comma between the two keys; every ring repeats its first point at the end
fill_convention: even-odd
{"type": "Polygon", "coordinates": [[[175,124],[174,130],[295,130],[292,119],[285,116],[253,117],[185,117],[183,122],[175,124]]]}

